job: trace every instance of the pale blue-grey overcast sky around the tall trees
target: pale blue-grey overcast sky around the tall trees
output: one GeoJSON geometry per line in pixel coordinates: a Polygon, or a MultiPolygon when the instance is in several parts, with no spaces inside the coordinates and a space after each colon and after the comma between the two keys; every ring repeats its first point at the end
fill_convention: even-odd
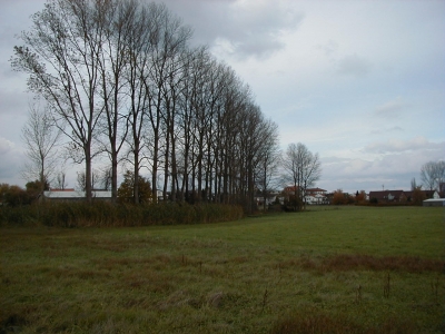
{"type": "MultiPolygon", "coordinates": [[[[43,3],[0,0],[0,183],[24,185],[31,95],[9,59],[43,3]]],[[[445,1],[165,3],[251,87],[284,149],[303,143],[319,154],[318,187],[409,189],[423,164],[445,159],[445,1]]]]}

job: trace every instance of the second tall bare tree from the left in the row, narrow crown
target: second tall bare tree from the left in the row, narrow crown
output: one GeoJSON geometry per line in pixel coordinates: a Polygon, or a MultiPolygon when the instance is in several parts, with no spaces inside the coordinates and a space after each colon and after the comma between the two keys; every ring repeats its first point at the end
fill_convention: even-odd
{"type": "Polygon", "coordinates": [[[103,42],[98,53],[100,72],[100,95],[105,111],[100,128],[105,134],[101,150],[108,154],[111,168],[102,173],[102,187],[111,190],[111,200],[117,200],[119,153],[123,148],[129,130],[126,102],[128,86],[125,71],[128,65],[129,48],[127,37],[131,33],[137,3],[135,1],[97,2],[101,12],[99,23],[103,24],[103,42]]]}

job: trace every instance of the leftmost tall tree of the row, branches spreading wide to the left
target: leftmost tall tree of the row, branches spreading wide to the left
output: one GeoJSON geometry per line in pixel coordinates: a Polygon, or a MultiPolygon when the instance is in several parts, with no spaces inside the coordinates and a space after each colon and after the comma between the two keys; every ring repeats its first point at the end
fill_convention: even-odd
{"type": "Polygon", "coordinates": [[[55,0],[32,16],[23,31],[23,46],[14,47],[11,65],[29,75],[28,88],[40,94],[57,114],[59,128],[81,151],[87,200],[91,200],[91,161],[95,129],[103,110],[97,96],[100,73],[97,55],[103,26],[100,8],[92,1],[55,0]],[[67,127],[65,127],[67,125],[67,127]]]}

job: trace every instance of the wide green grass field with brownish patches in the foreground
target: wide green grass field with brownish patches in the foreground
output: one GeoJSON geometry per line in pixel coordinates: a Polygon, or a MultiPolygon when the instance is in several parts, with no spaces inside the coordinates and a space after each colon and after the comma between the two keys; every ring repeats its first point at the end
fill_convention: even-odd
{"type": "Polygon", "coordinates": [[[444,209],[1,228],[0,333],[444,333],[444,209]]]}

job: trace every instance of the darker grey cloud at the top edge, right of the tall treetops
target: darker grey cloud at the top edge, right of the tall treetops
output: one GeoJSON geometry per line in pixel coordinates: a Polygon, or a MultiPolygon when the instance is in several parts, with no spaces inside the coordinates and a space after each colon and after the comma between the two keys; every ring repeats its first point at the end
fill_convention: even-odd
{"type": "Polygon", "coordinates": [[[196,42],[239,59],[267,58],[283,49],[283,32],[297,29],[303,20],[285,1],[253,1],[248,7],[225,0],[169,0],[166,4],[194,28],[196,42]]]}

